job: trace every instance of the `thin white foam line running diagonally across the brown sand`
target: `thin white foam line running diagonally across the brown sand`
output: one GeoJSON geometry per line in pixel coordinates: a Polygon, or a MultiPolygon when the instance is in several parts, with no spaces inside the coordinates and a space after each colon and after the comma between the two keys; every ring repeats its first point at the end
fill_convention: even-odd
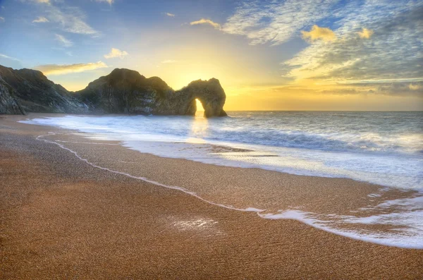
{"type": "MultiPolygon", "coordinates": [[[[216,202],[212,202],[210,200],[206,200],[206,199],[200,197],[200,195],[197,195],[197,193],[190,192],[189,190],[185,190],[185,188],[181,188],[181,187],[178,187],[176,185],[165,185],[164,183],[159,183],[157,181],[153,181],[153,180],[150,180],[150,179],[145,178],[145,177],[133,176],[133,175],[127,174],[125,172],[116,171],[116,170],[113,170],[113,169],[108,169],[106,167],[99,166],[97,164],[93,164],[92,162],[89,162],[87,159],[84,159],[83,157],[81,157],[77,152],[69,149],[68,147],[65,147],[64,145],[60,144],[59,142],[56,142],[54,140],[44,139],[45,136],[66,135],[66,134],[71,134],[71,133],[50,132],[49,134],[39,135],[39,136],[37,136],[36,139],[50,143],[50,144],[58,145],[63,150],[67,150],[68,152],[71,152],[72,154],[74,154],[75,157],[80,159],[82,162],[90,164],[90,166],[93,166],[97,169],[109,171],[109,172],[114,173],[114,174],[120,174],[120,175],[123,175],[123,176],[128,176],[130,178],[134,178],[134,179],[137,179],[137,180],[140,180],[140,181],[144,181],[145,183],[151,183],[153,185],[158,185],[158,186],[163,187],[163,188],[168,188],[168,189],[171,189],[171,190],[179,190],[183,193],[186,193],[187,195],[192,195],[193,197],[197,197],[199,200],[202,200],[203,202],[206,202],[209,205],[223,207],[223,208],[226,208],[226,209],[236,210],[236,211],[240,211],[240,212],[255,212],[257,214],[257,216],[259,216],[260,218],[263,218],[263,219],[291,219],[291,220],[295,220],[295,221],[300,221],[302,224],[307,224],[308,226],[312,226],[315,229],[320,229],[322,231],[334,233],[334,234],[339,235],[339,236],[352,238],[352,239],[355,239],[357,241],[376,243],[376,244],[380,244],[380,245],[387,245],[387,246],[398,247],[398,248],[423,249],[422,244],[413,245],[413,244],[405,244],[405,243],[389,243],[389,241],[385,241],[384,239],[381,239],[381,238],[372,238],[372,237],[369,237],[369,236],[360,236],[357,233],[351,233],[351,232],[348,232],[348,231],[337,231],[335,229],[324,227],[324,226],[321,226],[319,224],[319,221],[317,219],[306,217],[307,214],[311,214],[309,212],[302,212],[300,210],[287,209],[287,210],[279,210],[277,214],[272,214],[272,213],[264,214],[262,212],[265,212],[266,209],[257,209],[257,208],[253,208],[253,207],[241,209],[241,208],[233,207],[232,205],[223,205],[223,204],[219,204],[219,203],[216,203],[216,202]]],[[[63,141],[63,142],[65,142],[65,141],[63,141]]],[[[95,144],[102,145],[103,143],[95,143],[95,144]]]]}

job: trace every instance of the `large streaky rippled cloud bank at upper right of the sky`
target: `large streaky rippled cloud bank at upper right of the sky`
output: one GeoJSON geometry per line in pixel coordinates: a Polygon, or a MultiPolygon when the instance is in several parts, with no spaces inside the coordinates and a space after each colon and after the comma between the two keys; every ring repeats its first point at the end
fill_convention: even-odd
{"type": "Polygon", "coordinates": [[[415,85],[411,81],[423,78],[422,3],[348,3],[349,6],[333,11],[337,19],[333,26],[338,26],[334,32],[339,39],[330,43],[316,41],[284,61],[283,76],[293,78],[294,83],[351,83],[357,91],[372,86],[375,93],[384,95],[419,94],[419,90],[410,91],[410,83],[415,85]],[[386,17],[386,13],[390,16],[386,17]],[[360,26],[367,27],[369,31],[364,34],[372,40],[357,36],[360,26]]]}

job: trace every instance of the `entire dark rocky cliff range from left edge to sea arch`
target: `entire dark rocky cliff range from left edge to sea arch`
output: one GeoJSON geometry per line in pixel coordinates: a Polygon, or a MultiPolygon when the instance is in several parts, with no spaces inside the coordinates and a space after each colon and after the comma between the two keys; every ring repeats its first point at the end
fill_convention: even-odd
{"type": "Polygon", "coordinates": [[[161,78],[145,78],[137,71],[116,68],[78,92],[68,92],[30,69],[0,66],[0,79],[0,114],[195,115],[195,99],[199,99],[204,116],[226,116],[226,95],[214,78],[196,80],[175,91],[161,78]]]}

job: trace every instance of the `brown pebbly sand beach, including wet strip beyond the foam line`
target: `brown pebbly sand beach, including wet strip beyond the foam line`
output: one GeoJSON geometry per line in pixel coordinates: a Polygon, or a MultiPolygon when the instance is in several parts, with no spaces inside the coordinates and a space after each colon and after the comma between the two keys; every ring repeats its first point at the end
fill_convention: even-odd
{"type": "MultiPolygon", "coordinates": [[[[357,241],[299,221],[261,219],[98,169],[36,140],[51,131],[69,131],[16,123],[22,118],[27,117],[0,116],[1,279],[423,278],[423,250],[357,241]]],[[[78,138],[67,137],[61,140],[78,138]]],[[[120,145],[66,145],[109,169],[185,188],[199,185],[197,192],[207,189],[214,199],[219,188],[233,188],[239,196],[245,195],[245,184],[260,182],[257,192],[241,200],[246,207],[251,206],[249,196],[270,190],[283,194],[286,205],[348,212],[361,206],[351,196],[379,190],[348,179],[165,159],[120,145]],[[275,182],[286,188],[268,188],[275,182]],[[292,191],[295,185],[302,192],[292,191]],[[331,195],[339,203],[327,203],[331,195]]],[[[225,199],[231,201],[219,197],[225,199]]]]}

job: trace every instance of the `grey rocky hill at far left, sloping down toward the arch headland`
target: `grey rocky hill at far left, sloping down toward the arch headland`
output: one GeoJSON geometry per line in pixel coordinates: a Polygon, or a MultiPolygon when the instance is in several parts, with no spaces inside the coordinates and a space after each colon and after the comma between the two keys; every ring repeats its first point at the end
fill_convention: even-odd
{"type": "Polygon", "coordinates": [[[15,92],[16,100],[28,112],[84,114],[87,106],[40,71],[13,70],[0,66],[0,77],[15,92]]]}

